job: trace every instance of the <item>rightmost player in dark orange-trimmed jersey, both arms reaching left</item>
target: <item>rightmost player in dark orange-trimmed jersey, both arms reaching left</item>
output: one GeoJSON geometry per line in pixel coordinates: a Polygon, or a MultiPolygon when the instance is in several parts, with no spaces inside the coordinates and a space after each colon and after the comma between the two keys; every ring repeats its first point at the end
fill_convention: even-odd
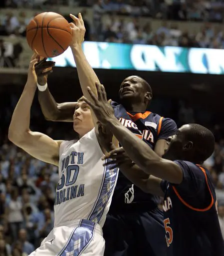
{"type": "Polygon", "coordinates": [[[169,137],[161,158],[117,120],[103,85],[97,85],[99,99],[90,88],[89,93],[93,103],[84,101],[123,146],[104,157],[113,158],[108,164],[117,164],[144,191],[164,196],[168,256],[223,256],[215,187],[202,166],[214,151],[213,133],[199,124],[183,125],[169,137]],[[126,153],[135,164],[125,163],[126,153]]]}

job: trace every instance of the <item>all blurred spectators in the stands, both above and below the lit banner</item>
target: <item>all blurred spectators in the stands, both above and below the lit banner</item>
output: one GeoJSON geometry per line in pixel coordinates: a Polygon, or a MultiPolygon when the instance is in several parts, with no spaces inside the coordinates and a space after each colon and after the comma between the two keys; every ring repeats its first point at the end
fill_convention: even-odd
{"type": "MultiPolygon", "coordinates": [[[[93,22],[90,22],[85,10],[82,11],[86,40],[224,48],[222,26],[211,23],[224,20],[224,0],[6,0],[2,5],[40,8],[39,12],[42,12],[43,6],[50,4],[92,6],[93,22]],[[103,20],[104,14],[107,15],[106,20],[103,20]],[[127,15],[128,19],[125,17],[127,15]],[[155,30],[150,21],[142,23],[141,16],[164,21],[155,30]],[[167,19],[207,22],[200,32],[190,33],[174,23],[169,24],[165,21],[167,19]]],[[[33,11],[33,16],[36,14],[33,11]]],[[[33,16],[27,16],[25,11],[19,11],[18,15],[10,11],[0,13],[0,35],[25,37],[26,25],[33,16]]],[[[65,17],[69,20],[69,15],[65,17]]],[[[0,39],[0,67],[14,67],[21,51],[22,44],[19,41],[13,43],[0,39]]],[[[0,95],[0,256],[28,255],[49,233],[54,220],[57,167],[34,159],[7,139],[7,129],[17,99],[11,93],[0,95]]],[[[172,116],[172,111],[160,112],[160,107],[165,105],[164,99],[161,101],[163,104],[154,102],[157,102],[156,111],[174,118],[178,126],[189,122],[203,124],[202,118],[207,118],[207,124],[210,124],[207,126],[216,137],[216,147],[205,166],[210,170],[216,186],[219,219],[224,235],[224,124],[211,125],[216,123],[211,121],[212,116],[197,112],[186,102],[177,103],[174,109],[179,111],[175,116],[172,116]]],[[[37,103],[32,107],[31,125],[31,128],[54,139],[69,139],[73,134],[72,125],[68,123],[60,123],[58,129],[57,123],[46,122],[37,103]],[[69,129],[71,132],[67,132],[69,129]]]]}

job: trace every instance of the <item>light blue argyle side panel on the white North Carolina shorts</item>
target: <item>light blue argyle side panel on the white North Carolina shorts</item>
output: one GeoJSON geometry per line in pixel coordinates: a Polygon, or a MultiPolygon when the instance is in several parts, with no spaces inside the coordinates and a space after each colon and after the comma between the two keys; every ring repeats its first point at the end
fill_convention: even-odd
{"type": "Polygon", "coordinates": [[[88,246],[93,238],[95,223],[83,219],[81,224],[74,228],[66,245],[58,256],[78,256],[88,246]],[[84,228],[85,229],[84,229],[84,228]]]}

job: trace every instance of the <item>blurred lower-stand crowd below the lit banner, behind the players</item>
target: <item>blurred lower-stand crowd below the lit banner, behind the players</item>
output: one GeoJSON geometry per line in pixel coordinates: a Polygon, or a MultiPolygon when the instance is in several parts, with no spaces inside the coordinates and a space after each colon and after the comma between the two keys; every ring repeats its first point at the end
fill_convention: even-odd
{"type": "MultiPolygon", "coordinates": [[[[34,159],[8,141],[7,129],[18,97],[11,93],[1,96],[7,100],[0,100],[0,256],[25,256],[40,244],[53,227],[57,167],[34,159]]],[[[165,101],[154,99],[154,102],[156,104],[152,108],[156,106],[159,111],[160,102],[165,101]]],[[[184,101],[179,101],[175,109],[179,112],[167,116],[176,116],[178,126],[197,122],[198,116],[202,116],[184,101]]],[[[45,132],[54,139],[68,139],[65,137],[69,134],[68,130],[71,130],[70,136],[74,136],[71,123],[65,123],[67,126],[63,127],[63,123],[45,121],[36,98],[30,123],[32,130],[45,132]]],[[[205,166],[210,170],[216,186],[219,219],[224,234],[224,125],[211,127],[216,137],[216,148],[205,166]]]]}

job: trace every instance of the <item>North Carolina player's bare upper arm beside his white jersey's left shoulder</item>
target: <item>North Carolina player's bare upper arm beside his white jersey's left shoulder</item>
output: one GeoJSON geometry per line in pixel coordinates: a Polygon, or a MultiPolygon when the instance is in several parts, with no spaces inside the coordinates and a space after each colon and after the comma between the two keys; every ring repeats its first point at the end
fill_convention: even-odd
{"type": "Polygon", "coordinates": [[[61,142],[41,132],[28,131],[18,146],[41,161],[58,165],[61,142]]]}

